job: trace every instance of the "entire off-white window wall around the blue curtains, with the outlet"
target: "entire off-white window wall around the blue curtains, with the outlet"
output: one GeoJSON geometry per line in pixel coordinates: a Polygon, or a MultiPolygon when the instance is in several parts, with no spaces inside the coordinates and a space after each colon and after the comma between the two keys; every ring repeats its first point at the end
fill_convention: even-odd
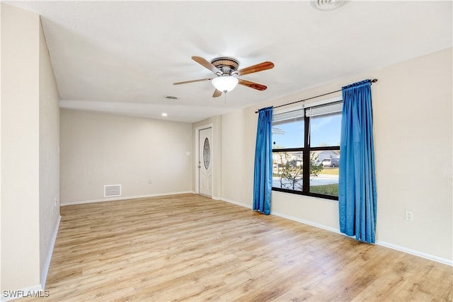
{"type": "MultiPolygon", "coordinates": [[[[377,241],[451,264],[452,49],[223,115],[222,198],[252,206],[258,108],[374,78],[379,80],[372,86],[377,241]],[[406,209],[413,211],[413,221],[405,220],[406,209]]],[[[282,192],[272,196],[273,214],[339,231],[338,202],[282,192]]]]}

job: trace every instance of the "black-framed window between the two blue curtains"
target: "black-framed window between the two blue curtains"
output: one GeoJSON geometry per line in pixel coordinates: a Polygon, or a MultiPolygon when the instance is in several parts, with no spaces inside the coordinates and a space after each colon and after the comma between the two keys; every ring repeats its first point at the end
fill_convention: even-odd
{"type": "Polygon", "coordinates": [[[273,190],[338,200],[341,100],[273,116],[273,190]]]}

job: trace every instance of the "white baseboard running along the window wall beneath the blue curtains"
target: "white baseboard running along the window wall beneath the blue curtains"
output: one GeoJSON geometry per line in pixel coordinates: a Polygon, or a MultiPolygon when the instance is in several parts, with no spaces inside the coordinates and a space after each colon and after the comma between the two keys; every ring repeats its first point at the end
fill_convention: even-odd
{"type": "MultiPolygon", "coordinates": [[[[250,205],[248,205],[248,204],[243,204],[241,202],[235,202],[234,200],[231,200],[231,199],[219,198],[219,200],[222,200],[224,202],[229,202],[231,204],[237,204],[239,206],[246,207],[248,209],[252,209],[252,207],[250,205]]],[[[270,211],[270,214],[271,215],[275,215],[275,216],[280,216],[282,218],[289,219],[289,220],[292,220],[292,221],[297,221],[297,222],[300,222],[300,223],[308,224],[309,226],[314,226],[316,228],[322,228],[323,230],[326,230],[326,231],[331,231],[331,232],[334,232],[334,233],[341,234],[339,229],[332,228],[330,226],[324,226],[323,224],[320,224],[320,223],[314,223],[312,221],[307,221],[305,219],[299,219],[297,217],[289,216],[289,215],[282,214],[282,213],[279,213],[279,212],[276,212],[276,211],[270,211]]],[[[432,261],[435,261],[435,262],[440,262],[440,263],[443,263],[445,265],[453,266],[453,261],[452,260],[445,259],[445,258],[442,258],[442,257],[437,257],[435,255],[430,255],[430,254],[427,254],[425,252],[420,252],[418,250],[411,250],[409,248],[403,248],[403,247],[401,247],[399,245],[394,245],[392,243],[386,243],[386,242],[380,241],[380,240],[377,240],[376,244],[377,245],[382,245],[382,246],[384,246],[386,248],[391,248],[392,250],[398,250],[400,252],[406,252],[407,254],[415,255],[415,256],[422,257],[422,258],[425,258],[425,259],[428,259],[428,260],[432,260],[432,261]]]]}

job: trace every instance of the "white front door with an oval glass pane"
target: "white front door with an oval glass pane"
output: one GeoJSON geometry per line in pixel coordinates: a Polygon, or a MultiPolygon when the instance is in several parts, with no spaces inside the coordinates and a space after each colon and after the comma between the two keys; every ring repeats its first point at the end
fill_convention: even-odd
{"type": "Polygon", "coordinates": [[[199,130],[198,170],[200,194],[212,196],[212,128],[199,130]]]}

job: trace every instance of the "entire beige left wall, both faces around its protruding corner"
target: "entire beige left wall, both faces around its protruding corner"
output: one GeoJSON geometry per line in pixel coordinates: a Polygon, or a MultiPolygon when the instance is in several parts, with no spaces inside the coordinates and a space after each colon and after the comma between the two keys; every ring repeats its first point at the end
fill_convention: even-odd
{"type": "Polygon", "coordinates": [[[1,289],[40,289],[58,218],[59,138],[38,14],[1,4],[1,63],[1,289]]]}

